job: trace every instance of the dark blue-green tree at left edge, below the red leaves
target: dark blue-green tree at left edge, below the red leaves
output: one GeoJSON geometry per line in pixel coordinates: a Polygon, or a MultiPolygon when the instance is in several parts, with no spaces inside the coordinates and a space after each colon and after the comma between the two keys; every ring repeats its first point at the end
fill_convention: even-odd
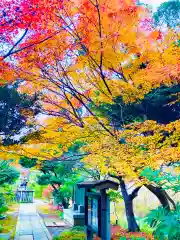
{"type": "Polygon", "coordinates": [[[17,142],[23,129],[26,131],[33,125],[27,126],[27,120],[39,113],[36,96],[30,97],[17,91],[14,85],[0,87],[0,136],[3,145],[17,142]]]}

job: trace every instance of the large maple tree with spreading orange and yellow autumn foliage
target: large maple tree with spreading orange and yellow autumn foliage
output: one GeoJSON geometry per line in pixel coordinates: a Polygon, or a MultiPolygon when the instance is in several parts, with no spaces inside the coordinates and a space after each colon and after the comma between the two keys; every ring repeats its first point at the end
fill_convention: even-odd
{"type": "MultiPolygon", "coordinates": [[[[47,154],[61,156],[72,142],[83,139],[87,144],[83,150],[88,153],[84,162],[101,174],[120,177],[124,191],[124,180],[135,181],[136,191],[147,183],[139,178],[143,167],[156,169],[178,161],[178,120],[165,125],[155,121],[126,125],[121,116],[122,129],[118,129],[96,111],[119,96],[125,104],[138,102],[152,89],[178,84],[178,33],[153,28],[148,9],[133,0],[54,0],[46,6],[39,0],[26,1],[25,6],[23,24],[17,27],[28,28],[30,36],[18,47],[11,43],[9,55],[17,64],[3,62],[2,79],[23,79],[19,91],[40,93],[42,113],[52,117],[28,143],[9,148],[8,153],[43,160],[47,154]]],[[[12,31],[13,36],[17,27],[7,26],[2,27],[3,34],[12,31]]],[[[121,108],[120,103],[120,114],[121,108]]],[[[126,203],[130,202],[127,191],[126,196],[126,203]]],[[[132,200],[131,213],[126,205],[129,229],[137,230],[132,200]]]]}

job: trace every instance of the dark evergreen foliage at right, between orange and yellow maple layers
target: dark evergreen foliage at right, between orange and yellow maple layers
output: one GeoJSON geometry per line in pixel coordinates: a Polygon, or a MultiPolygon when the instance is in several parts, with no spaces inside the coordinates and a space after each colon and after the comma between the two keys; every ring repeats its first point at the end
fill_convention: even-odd
{"type": "Polygon", "coordinates": [[[162,85],[146,94],[142,100],[125,103],[121,97],[117,97],[114,104],[101,104],[96,112],[108,118],[116,128],[145,120],[168,124],[180,118],[179,93],[180,84],[169,87],[162,85]]]}

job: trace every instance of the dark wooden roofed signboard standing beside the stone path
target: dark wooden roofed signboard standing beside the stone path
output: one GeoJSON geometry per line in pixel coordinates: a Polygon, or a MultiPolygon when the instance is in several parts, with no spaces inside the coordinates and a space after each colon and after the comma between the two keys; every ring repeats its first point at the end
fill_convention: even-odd
{"type": "Polygon", "coordinates": [[[87,240],[93,240],[94,233],[101,240],[110,240],[110,202],[106,190],[118,190],[119,183],[106,179],[81,182],[77,186],[86,190],[85,225],[87,227],[87,240]]]}

